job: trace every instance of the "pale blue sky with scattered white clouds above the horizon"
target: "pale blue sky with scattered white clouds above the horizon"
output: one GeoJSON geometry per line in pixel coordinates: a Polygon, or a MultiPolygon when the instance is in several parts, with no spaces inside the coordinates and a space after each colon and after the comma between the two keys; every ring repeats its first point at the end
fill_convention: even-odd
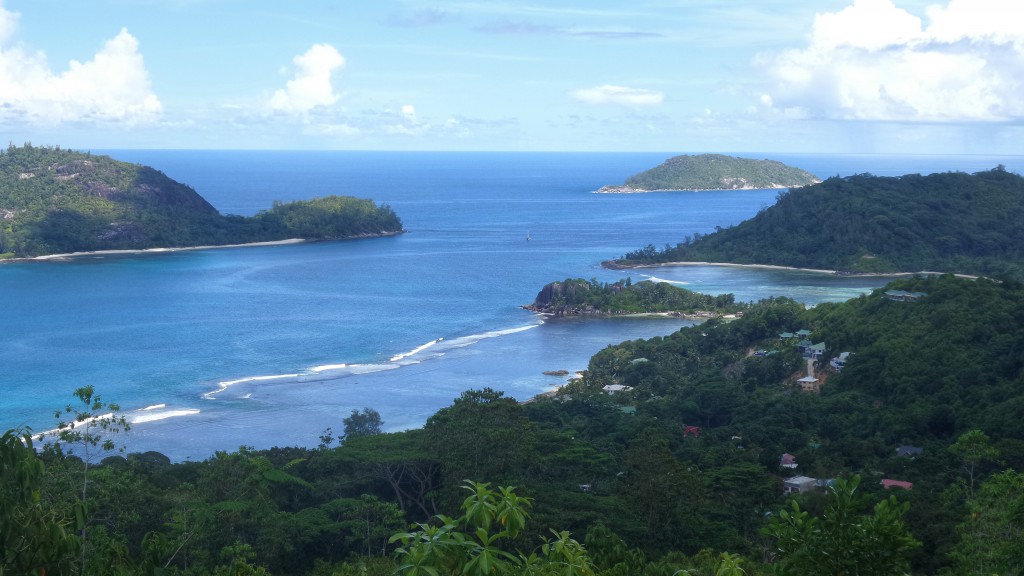
{"type": "Polygon", "coordinates": [[[0,0],[0,136],[1024,154],[1022,0],[0,0]]]}

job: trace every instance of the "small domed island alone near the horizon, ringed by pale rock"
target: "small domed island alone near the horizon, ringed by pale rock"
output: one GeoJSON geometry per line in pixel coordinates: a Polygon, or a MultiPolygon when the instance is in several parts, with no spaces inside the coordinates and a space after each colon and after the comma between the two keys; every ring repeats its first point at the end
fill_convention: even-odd
{"type": "Polygon", "coordinates": [[[820,182],[814,174],[775,160],[751,160],[721,154],[675,156],[660,166],[630,176],[623,186],[598,194],[636,194],[681,190],[765,190],[820,182]]]}

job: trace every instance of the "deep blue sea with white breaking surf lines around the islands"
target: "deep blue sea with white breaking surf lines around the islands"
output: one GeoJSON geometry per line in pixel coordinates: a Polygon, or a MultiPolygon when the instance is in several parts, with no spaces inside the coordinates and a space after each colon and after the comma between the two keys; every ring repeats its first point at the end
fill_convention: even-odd
{"type": "MultiPolygon", "coordinates": [[[[776,191],[598,195],[672,154],[93,151],[154,166],[225,213],[331,194],[387,203],[396,237],[0,265],[0,429],[52,428],[92,384],[135,422],[129,451],[204,459],[315,446],[351,410],[421,425],[468,388],[524,400],[602,347],[683,320],[547,321],[548,282],[656,278],[755,300],[843,300],[886,282],[601,260],[735,224],[776,191]],[[527,240],[528,237],[528,240],[527,240]]],[[[744,155],[760,158],[759,155],[744,155]]],[[[1024,157],[773,155],[819,176],[962,170],[1024,157]]]]}

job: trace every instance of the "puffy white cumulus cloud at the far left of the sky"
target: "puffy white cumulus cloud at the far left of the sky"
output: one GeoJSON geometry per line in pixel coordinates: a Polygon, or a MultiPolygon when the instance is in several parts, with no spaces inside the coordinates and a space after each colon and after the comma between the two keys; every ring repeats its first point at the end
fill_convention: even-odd
{"type": "Polygon", "coordinates": [[[138,124],[162,111],[126,29],[106,41],[92,59],[72,60],[54,73],[41,51],[8,45],[17,14],[0,5],[0,116],[9,122],[56,125],[66,122],[138,124]]]}

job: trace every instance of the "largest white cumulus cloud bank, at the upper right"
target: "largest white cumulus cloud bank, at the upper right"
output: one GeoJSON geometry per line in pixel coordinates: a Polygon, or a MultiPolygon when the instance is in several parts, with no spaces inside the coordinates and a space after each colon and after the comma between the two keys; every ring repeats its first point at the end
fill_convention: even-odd
{"type": "Polygon", "coordinates": [[[949,0],[927,22],[892,0],[818,14],[806,48],[762,54],[762,105],[790,118],[1024,118],[1024,3],[949,0]]]}

